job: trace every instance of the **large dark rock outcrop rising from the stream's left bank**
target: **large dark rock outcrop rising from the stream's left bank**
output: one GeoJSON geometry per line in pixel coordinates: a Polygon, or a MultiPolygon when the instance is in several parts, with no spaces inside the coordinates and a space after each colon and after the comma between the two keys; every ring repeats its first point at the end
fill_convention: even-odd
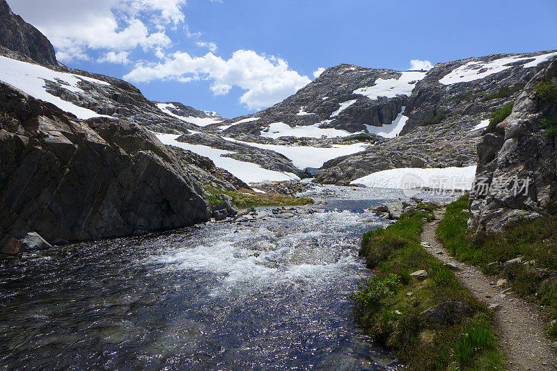
{"type": "Polygon", "coordinates": [[[81,121],[0,83],[0,240],[111,238],[209,218],[203,190],[126,119],[81,121]]]}

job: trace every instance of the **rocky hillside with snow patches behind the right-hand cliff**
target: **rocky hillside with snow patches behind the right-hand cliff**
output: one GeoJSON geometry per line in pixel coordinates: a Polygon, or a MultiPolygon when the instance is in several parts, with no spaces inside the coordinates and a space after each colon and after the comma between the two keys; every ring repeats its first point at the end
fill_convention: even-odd
{"type": "Polygon", "coordinates": [[[397,138],[325,163],[316,180],[343,184],[396,167],[474,165],[489,116],[514,101],[556,56],[551,51],[497,54],[437,64],[407,99],[407,121],[397,138]]]}

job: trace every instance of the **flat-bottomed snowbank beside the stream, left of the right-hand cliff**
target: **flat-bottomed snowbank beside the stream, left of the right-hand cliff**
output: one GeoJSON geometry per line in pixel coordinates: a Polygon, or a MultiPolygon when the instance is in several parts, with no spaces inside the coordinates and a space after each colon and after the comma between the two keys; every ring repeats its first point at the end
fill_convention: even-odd
{"type": "Polygon", "coordinates": [[[429,187],[441,190],[471,190],[476,165],[467,167],[443,167],[434,169],[418,169],[403,167],[400,169],[374,172],[350,184],[363,185],[369,188],[411,189],[429,187]]]}

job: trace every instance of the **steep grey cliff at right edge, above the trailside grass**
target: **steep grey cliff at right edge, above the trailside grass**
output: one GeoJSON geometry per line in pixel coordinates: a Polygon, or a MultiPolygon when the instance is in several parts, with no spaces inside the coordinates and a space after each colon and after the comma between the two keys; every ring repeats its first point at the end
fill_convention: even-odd
{"type": "Polygon", "coordinates": [[[512,114],[478,144],[469,224],[501,231],[519,217],[555,212],[557,60],[538,72],[512,114]]]}

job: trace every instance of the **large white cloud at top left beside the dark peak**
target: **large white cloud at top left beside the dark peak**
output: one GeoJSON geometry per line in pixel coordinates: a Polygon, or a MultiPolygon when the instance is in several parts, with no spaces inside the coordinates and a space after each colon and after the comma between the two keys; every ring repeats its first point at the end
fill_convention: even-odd
{"type": "Polygon", "coordinates": [[[10,0],[45,33],[63,61],[90,59],[88,49],[130,51],[169,47],[166,26],[185,20],[185,0],[10,0]]]}

